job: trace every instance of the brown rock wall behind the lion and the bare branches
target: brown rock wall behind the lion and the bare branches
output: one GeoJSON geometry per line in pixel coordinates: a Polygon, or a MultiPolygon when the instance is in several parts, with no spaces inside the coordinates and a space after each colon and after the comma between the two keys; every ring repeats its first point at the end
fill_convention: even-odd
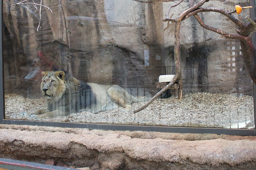
{"type": "MultiPolygon", "coordinates": [[[[146,87],[150,96],[157,92],[155,83],[160,74],[173,74],[156,71],[174,65],[174,25],[163,22],[171,2],[49,0],[43,3],[52,12],[42,8],[41,27],[37,31],[39,9],[3,2],[6,93],[40,97],[41,71],[62,69],[86,82],[118,84],[130,89],[146,87]]],[[[220,7],[231,11],[235,3],[220,7]]],[[[188,2],[182,4],[173,8],[170,16],[188,7],[188,2]]],[[[220,2],[206,4],[214,6],[220,2]]],[[[246,6],[248,2],[240,4],[246,6]]],[[[240,18],[248,13],[243,12],[240,18]]],[[[216,19],[220,14],[200,15],[206,23],[219,25],[225,31],[236,29],[227,18],[216,19]]],[[[185,94],[252,95],[239,42],[221,39],[190,17],[182,23],[181,43],[185,94]],[[234,50],[232,43],[236,44],[234,50]]]]}

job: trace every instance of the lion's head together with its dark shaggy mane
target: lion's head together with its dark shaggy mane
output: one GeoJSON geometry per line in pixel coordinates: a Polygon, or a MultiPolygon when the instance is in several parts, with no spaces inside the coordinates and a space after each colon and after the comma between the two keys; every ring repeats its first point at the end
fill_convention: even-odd
{"type": "Polygon", "coordinates": [[[63,71],[43,71],[41,90],[48,102],[48,110],[60,109],[65,115],[90,110],[96,105],[92,88],[63,71]],[[46,90],[48,89],[48,90],[46,90]]]}

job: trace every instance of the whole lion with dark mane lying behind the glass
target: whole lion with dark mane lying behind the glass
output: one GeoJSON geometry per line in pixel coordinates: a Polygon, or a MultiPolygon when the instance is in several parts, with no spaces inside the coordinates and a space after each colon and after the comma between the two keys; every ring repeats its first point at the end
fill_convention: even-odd
{"type": "Polygon", "coordinates": [[[150,99],[134,97],[119,85],[85,83],[62,70],[42,71],[41,75],[41,91],[48,105],[33,113],[40,118],[65,116],[81,111],[99,113],[121,106],[130,111],[132,103],[150,99]]]}

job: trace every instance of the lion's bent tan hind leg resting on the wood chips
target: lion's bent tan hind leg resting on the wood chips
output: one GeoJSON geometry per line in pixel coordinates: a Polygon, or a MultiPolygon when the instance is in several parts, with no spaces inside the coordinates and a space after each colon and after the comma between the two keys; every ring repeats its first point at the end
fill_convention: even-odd
{"type": "Polygon", "coordinates": [[[126,111],[132,110],[132,98],[131,95],[124,90],[122,87],[116,85],[108,88],[108,95],[121,106],[124,107],[126,111]]]}

